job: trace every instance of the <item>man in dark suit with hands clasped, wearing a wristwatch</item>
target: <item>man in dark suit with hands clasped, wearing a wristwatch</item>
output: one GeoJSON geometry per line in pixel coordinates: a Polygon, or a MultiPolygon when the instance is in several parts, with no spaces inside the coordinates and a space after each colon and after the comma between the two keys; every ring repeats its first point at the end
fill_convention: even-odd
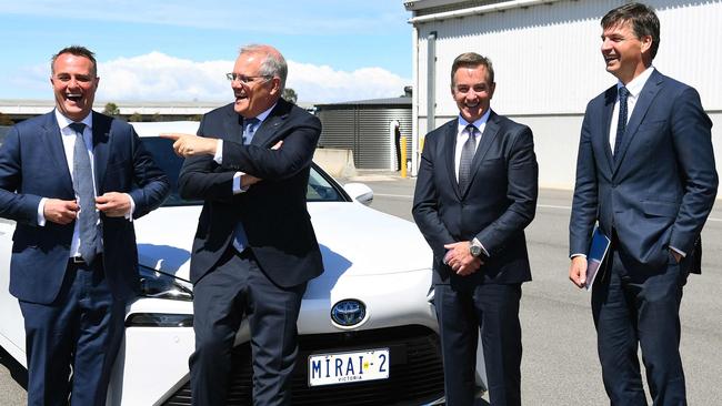
{"type": "Polygon", "coordinates": [[[479,329],[492,405],[520,405],[521,283],[531,281],[524,227],[534,217],[531,130],[490,109],[491,61],[459,55],[451,94],[459,118],[430,132],[413,217],[433,251],[447,404],[472,405],[479,329]]]}

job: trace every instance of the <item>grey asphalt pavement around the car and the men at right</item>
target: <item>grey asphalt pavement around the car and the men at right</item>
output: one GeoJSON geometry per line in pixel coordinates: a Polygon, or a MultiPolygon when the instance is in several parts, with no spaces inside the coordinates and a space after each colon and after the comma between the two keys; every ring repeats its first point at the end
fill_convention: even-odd
{"type": "MultiPolygon", "coordinates": [[[[411,219],[414,180],[395,173],[363,172],[343,182],[363,182],[374,191],[371,207],[411,219]]],[[[527,230],[533,281],[523,285],[522,402],[524,405],[609,404],[596,357],[590,294],[568,280],[570,191],[540,191],[537,217],[527,230]]],[[[400,242],[402,244],[402,242],[400,242]]],[[[690,276],[682,300],[681,352],[690,405],[722,399],[722,205],[703,232],[702,276],[690,276]]],[[[17,380],[22,373],[0,351],[0,405],[23,405],[17,380]],[[8,366],[10,369],[8,369],[8,366]],[[14,378],[11,376],[14,375],[14,378]]],[[[480,405],[485,403],[481,402],[480,405]]]]}

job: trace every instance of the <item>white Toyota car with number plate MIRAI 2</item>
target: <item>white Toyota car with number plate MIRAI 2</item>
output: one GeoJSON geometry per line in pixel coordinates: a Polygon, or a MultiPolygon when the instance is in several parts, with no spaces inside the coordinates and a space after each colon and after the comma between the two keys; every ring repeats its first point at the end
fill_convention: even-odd
{"type": "MultiPolygon", "coordinates": [[[[173,192],[162,207],[136,222],[142,293],[127,311],[108,404],[190,405],[189,264],[201,206],[178,196],[174,181],[182,160],[156,134],[194,133],[198,123],[133,125],[173,182],[173,192]]],[[[372,197],[368,186],[342,187],[313,165],[308,206],[325,272],[309,283],[301,306],[294,405],[443,403],[431,251],[413,223],[362,204],[372,197]]],[[[0,219],[0,345],[24,366],[22,315],[8,292],[13,229],[13,222],[0,219]]],[[[248,342],[243,324],[228,405],[251,404],[248,342]]]]}

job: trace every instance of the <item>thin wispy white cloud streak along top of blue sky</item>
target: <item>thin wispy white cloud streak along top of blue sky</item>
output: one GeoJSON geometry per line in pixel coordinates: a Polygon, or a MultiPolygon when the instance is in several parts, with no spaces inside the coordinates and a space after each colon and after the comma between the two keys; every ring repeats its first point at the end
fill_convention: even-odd
{"type": "Polygon", "coordinates": [[[301,34],[355,32],[365,34],[409,17],[389,0],[251,2],[243,0],[2,1],[0,13],[50,17],[62,10],[70,19],[193,27],[213,30],[301,34]],[[142,12],[139,12],[142,10],[142,12]]]}

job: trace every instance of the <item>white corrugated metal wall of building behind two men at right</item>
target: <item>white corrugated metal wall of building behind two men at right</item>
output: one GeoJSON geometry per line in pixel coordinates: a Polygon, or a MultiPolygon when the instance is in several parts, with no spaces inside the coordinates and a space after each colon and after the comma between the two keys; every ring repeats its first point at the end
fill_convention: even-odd
{"type": "MultiPolygon", "coordinates": [[[[492,108],[505,114],[583,113],[615,79],[604,71],[599,21],[619,0],[558,1],[419,23],[419,113],[427,111],[427,35],[437,39],[437,115],[455,115],[448,93],[453,59],[467,51],[491,58],[497,73],[492,108]]],[[[658,10],[660,51],[654,65],[686,82],[708,110],[722,110],[722,1],[649,0],[658,10]]],[[[443,121],[437,122],[440,125],[443,121]]]]}

